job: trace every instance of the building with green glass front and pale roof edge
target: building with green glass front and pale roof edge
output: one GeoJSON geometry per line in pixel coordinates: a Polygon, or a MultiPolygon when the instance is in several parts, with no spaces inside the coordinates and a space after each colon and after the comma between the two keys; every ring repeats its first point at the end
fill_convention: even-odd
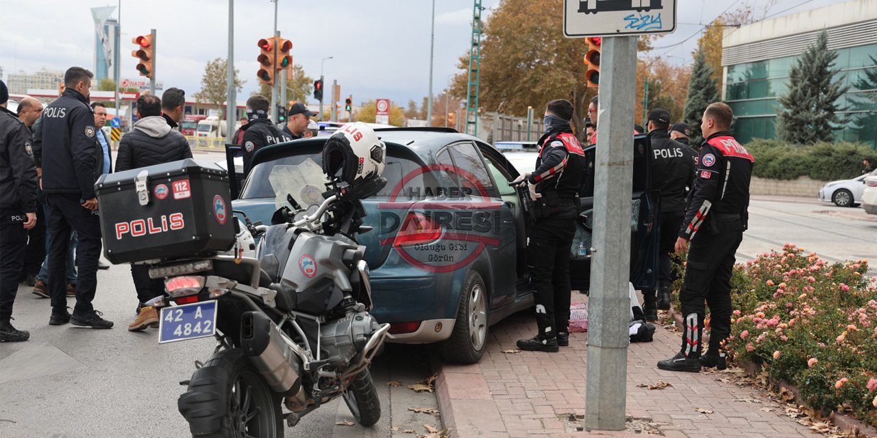
{"type": "Polygon", "coordinates": [[[795,59],[828,32],[838,58],[836,81],[849,87],[838,99],[846,123],[838,140],[877,147],[877,1],[853,0],[728,28],[722,40],[722,99],[734,110],[741,141],[774,138],[778,97],[788,91],[795,59]]]}

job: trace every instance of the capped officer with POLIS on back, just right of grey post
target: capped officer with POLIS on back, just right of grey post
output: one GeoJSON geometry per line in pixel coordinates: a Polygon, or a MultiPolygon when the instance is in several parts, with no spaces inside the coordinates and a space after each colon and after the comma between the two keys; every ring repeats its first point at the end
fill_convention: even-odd
{"type": "Polygon", "coordinates": [[[659,289],[643,291],[645,321],[658,321],[658,309],[670,308],[670,253],[685,215],[685,195],[695,179],[695,152],[671,140],[667,134],[670,113],[666,109],[649,112],[649,141],[652,143],[652,190],[660,194],[659,289]]]}

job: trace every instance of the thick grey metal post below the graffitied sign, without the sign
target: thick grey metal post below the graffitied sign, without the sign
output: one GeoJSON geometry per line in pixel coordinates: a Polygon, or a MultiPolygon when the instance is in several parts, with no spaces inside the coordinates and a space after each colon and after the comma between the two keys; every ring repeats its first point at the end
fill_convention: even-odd
{"type": "Polygon", "coordinates": [[[627,218],[631,217],[633,186],[631,126],[637,88],[637,37],[602,41],[585,427],[624,430],[631,320],[631,223],[627,218]]]}

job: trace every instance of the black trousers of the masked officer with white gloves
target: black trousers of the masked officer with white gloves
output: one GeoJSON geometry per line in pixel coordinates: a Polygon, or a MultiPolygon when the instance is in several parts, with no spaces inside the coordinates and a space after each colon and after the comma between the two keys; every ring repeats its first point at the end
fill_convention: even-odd
{"type": "Polygon", "coordinates": [[[538,219],[530,230],[527,265],[536,289],[539,335],[554,337],[569,327],[569,258],[575,219],[538,219]]]}

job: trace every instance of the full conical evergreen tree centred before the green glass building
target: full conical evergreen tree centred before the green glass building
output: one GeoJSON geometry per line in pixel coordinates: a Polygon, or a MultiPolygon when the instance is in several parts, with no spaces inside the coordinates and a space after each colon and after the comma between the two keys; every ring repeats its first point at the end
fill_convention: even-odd
{"type": "Polygon", "coordinates": [[[777,138],[795,145],[833,140],[832,131],[843,128],[838,97],[849,87],[843,78],[834,81],[838,53],[828,50],[828,32],[821,32],[816,44],[807,47],[789,71],[788,92],[781,95],[777,111],[777,138]]]}

